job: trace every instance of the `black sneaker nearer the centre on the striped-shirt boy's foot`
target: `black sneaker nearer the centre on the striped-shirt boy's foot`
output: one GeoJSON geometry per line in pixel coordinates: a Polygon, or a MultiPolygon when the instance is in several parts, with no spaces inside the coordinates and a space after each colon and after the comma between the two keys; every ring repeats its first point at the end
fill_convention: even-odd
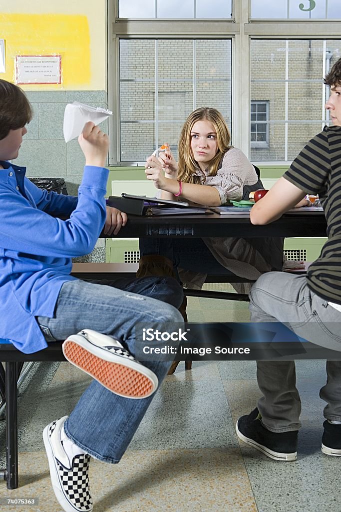
{"type": "Polygon", "coordinates": [[[296,460],[298,430],[271,432],[262,423],[256,408],[252,413],[241,416],[236,424],[237,436],[270,459],[296,460]]]}

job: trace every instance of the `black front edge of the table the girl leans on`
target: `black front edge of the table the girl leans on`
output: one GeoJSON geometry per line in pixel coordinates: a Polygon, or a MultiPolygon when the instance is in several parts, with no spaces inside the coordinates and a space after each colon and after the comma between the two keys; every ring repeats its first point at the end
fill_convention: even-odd
{"type": "Polygon", "coordinates": [[[245,214],[128,216],[115,238],[204,237],[326,237],[323,211],[290,212],[264,226],[254,226],[245,214]]]}

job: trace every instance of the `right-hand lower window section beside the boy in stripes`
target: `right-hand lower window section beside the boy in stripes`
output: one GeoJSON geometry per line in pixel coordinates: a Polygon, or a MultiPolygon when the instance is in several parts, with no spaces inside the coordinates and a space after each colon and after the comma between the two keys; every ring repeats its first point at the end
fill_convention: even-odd
{"type": "Polygon", "coordinates": [[[266,106],[251,104],[252,160],[290,161],[323,129],[328,118],[322,77],[339,56],[341,41],[251,41],[251,97],[267,99],[266,106]]]}

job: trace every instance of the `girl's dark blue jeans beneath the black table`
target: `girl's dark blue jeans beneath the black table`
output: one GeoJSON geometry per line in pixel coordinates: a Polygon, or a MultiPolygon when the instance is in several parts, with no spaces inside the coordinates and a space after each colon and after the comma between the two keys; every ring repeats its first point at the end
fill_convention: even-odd
{"type": "Polygon", "coordinates": [[[140,256],[160,254],[184,270],[217,275],[234,275],[214,258],[201,238],[140,238],[140,256]]]}

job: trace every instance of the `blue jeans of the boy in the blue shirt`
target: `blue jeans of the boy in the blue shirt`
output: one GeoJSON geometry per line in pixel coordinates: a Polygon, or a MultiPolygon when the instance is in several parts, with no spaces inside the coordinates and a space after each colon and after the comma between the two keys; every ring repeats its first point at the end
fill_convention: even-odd
{"type": "MultiPolygon", "coordinates": [[[[150,322],[162,329],[165,322],[177,322],[183,327],[183,318],[175,309],[182,300],[183,292],[172,278],[123,279],[106,281],[106,284],[68,281],[60,290],[54,317],[38,316],[37,321],[48,341],[65,339],[82,329],[94,329],[112,335],[134,354],[135,324],[150,322]],[[118,285],[122,289],[116,288],[118,285]]],[[[171,362],[145,361],[143,364],[161,383],[171,362]]],[[[66,420],[66,435],[93,457],[117,463],[152,398],[153,395],[141,400],[123,398],[94,380],[66,420]]]]}

